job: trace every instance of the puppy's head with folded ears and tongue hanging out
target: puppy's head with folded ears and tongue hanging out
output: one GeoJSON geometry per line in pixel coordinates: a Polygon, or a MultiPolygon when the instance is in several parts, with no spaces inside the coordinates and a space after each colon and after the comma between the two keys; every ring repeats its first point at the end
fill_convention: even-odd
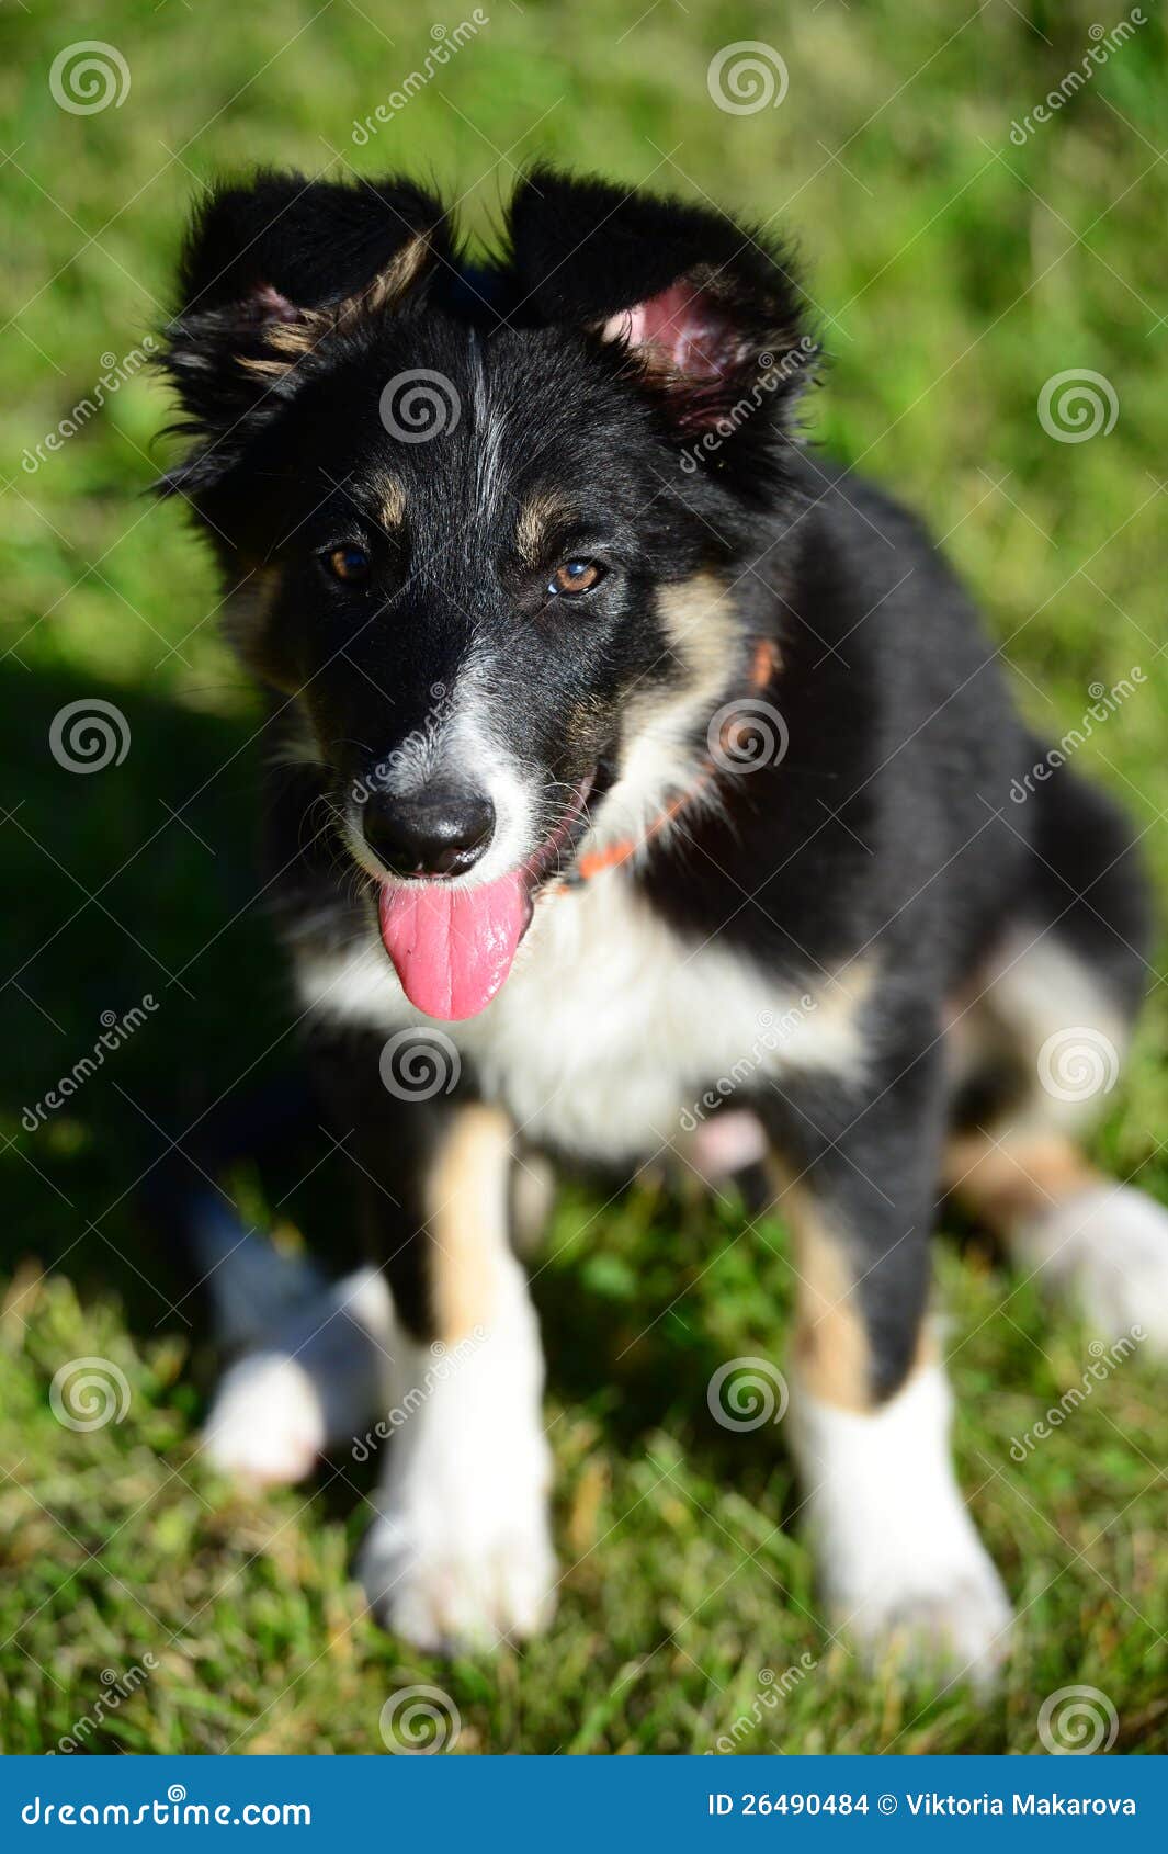
{"type": "Polygon", "coordinates": [[[812,354],[773,245],[597,182],[532,172],[482,267],[404,182],[198,213],[167,488],[425,1012],[480,1010],[582,838],[701,771],[773,634],[812,354]]]}

